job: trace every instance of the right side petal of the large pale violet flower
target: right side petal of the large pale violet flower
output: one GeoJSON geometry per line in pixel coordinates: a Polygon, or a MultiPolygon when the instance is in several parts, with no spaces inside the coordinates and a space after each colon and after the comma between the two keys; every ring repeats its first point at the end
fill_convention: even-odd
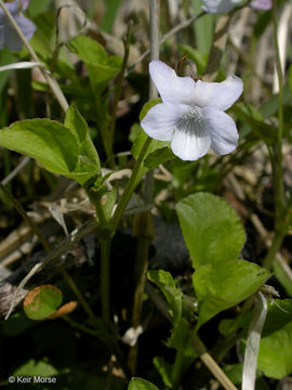
{"type": "Polygon", "coordinates": [[[202,109],[211,134],[211,147],[220,155],[231,153],[238,144],[238,132],[234,119],[213,107],[202,109]]]}

